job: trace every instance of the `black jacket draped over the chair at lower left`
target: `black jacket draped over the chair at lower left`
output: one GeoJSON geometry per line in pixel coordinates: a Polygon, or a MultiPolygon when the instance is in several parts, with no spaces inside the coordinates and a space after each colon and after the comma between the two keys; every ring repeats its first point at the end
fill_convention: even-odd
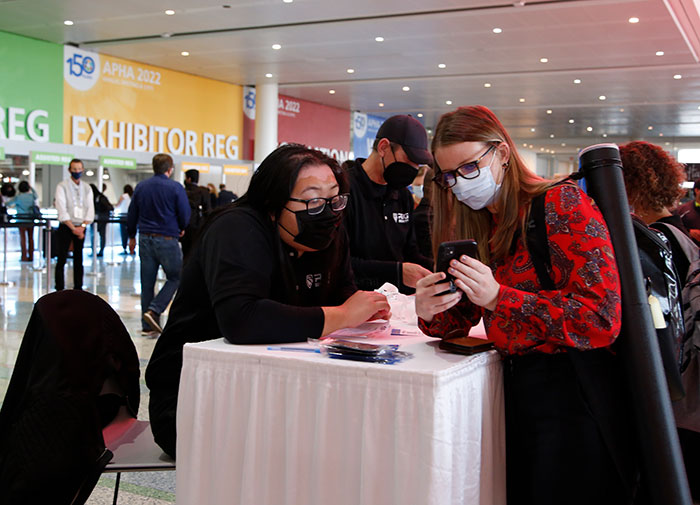
{"type": "Polygon", "coordinates": [[[103,409],[107,378],[135,417],[139,359],[117,313],[84,291],[40,298],[0,410],[3,503],[71,503],[104,454],[102,428],[116,414],[103,409]]]}

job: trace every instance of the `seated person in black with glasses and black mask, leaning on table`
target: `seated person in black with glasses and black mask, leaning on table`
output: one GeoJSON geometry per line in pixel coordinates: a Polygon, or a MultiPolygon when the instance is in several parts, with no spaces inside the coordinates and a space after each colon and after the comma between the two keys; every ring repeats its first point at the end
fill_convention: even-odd
{"type": "Polygon", "coordinates": [[[384,295],[353,282],[339,232],[346,191],[335,160],[288,144],[265,158],[245,195],[205,222],[146,369],[151,428],[166,453],[175,456],[185,343],[299,342],[390,316],[384,295]]]}

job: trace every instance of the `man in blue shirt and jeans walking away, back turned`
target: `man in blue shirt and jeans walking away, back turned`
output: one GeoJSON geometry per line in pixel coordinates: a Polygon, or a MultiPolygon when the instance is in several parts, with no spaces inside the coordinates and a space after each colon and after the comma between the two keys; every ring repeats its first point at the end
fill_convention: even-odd
{"type": "Polygon", "coordinates": [[[190,221],[190,205],[185,189],[170,179],[173,159],[167,154],[153,157],[154,176],[140,182],[134,190],[127,216],[129,249],[136,248],[139,232],[141,260],[141,311],[145,335],[158,336],[163,331],[160,315],[180,284],[182,250],[178,238],[190,221]],[[163,267],[165,284],[154,296],[158,268],[163,267]]]}

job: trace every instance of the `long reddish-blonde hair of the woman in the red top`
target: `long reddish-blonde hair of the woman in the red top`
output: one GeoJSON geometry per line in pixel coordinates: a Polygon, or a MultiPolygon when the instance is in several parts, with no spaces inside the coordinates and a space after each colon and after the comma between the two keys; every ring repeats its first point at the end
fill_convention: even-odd
{"type": "MultiPolygon", "coordinates": [[[[548,181],[529,170],[518,155],[513,140],[498,118],[482,105],[460,107],[443,114],[435,128],[432,151],[461,142],[504,142],[510,148],[508,161],[504,164],[501,189],[494,202],[497,214],[492,216],[487,209],[473,210],[459,202],[452,191],[433,184],[433,254],[441,242],[473,238],[479,244],[479,259],[486,264],[505,258],[511,248],[518,226],[525,235],[525,223],[529,214],[529,203],[535,196],[544,193],[552,181],[548,181]],[[524,212],[521,212],[525,206],[524,212]],[[491,236],[494,217],[498,222],[491,236]]],[[[440,167],[435,162],[436,173],[440,167]]]]}

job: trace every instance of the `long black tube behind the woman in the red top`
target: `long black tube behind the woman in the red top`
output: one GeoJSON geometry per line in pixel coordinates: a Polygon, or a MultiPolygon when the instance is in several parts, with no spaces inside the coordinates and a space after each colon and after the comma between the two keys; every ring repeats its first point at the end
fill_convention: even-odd
{"type": "Polygon", "coordinates": [[[683,456],[644,291],[620,152],[615,144],[590,146],[579,155],[588,194],[610,230],[622,286],[620,358],[634,406],[643,489],[653,505],[691,505],[683,456]]]}

